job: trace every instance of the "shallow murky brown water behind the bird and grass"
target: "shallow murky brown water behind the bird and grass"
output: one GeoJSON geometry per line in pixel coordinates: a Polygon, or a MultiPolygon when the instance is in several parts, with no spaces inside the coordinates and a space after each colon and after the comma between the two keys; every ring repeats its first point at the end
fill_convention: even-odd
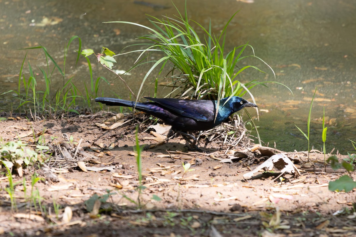
{"type": "MultiPolygon", "coordinates": [[[[0,0],[0,94],[17,90],[18,74],[26,51],[16,49],[41,44],[55,60],[63,62],[64,45],[70,37],[78,35],[83,41],[83,48],[100,51],[101,46],[105,46],[120,52],[130,41],[146,32],[139,27],[101,22],[133,21],[149,25],[145,14],[160,17],[177,13],[170,1],[146,2],[169,8],[135,4],[127,0],[0,0]]],[[[174,2],[180,11],[184,9],[184,1],[174,2]]],[[[277,84],[252,89],[256,103],[262,109],[260,121],[255,120],[256,125],[260,126],[262,140],[270,146],[276,142],[280,150],[307,150],[307,140],[295,125],[306,132],[310,100],[318,87],[312,111],[311,146],[319,150],[322,147],[321,117],[325,106],[327,151],[336,147],[344,154],[352,152],[354,148],[347,139],[356,140],[354,0],[255,0],[252,4],[235,0],[216,2],[188,0],[189,18],[206,27],[211,19],[213,31],[219,32],[229,17],[240,10],[229,25],[227,45],[232,48],[249,42],[256,55],[276,73],[274,78],[271,70],[261,62],[250,61],[246,63],[257,65],[268,75],[250,70],[241,76],[241,81],[277,81],[293,92],[294,96],[277,84]]],[[[75,45],[76,42],[71,49],[74,50],[75,45]]],[[[27,60],[35,72],[39,72],[36,65],[43,67],[45,57],[40,50],[30,50],[27,60]]],[[[74,76],[73,80],[79,85],[88,83],[89,72],[85,60],[82,58],[74,68],[75,52],[72,50],[69,51],[68,60],[68,77],[74,76]]],[[[128,70],[134,60],[132,56],[121,56],[116,69],[128,70]]],[[[127,89],[118,79],[114,80],[115,77],[96,64],[94,58],[91,63],[95,78],[104,76],[110,81],[110,85],[101,85],[106,96],[118,95],[129,99],[127,89]]],[[[124,77],[135,92],[147,70],[148,66],[143,66],[132,72],[131,76],[124,77]]],[[[24,71],[28,73],[28,67],[24,71]]],[[[55,78],[58,80],[53,82],[53,87],[63,85],[61,77],[55,78]]],[[[41,84],[40,75],[37,80],[41,84]]],[[[152,96],[152,88],[149,87],[145,95],[152,96]]],[[[12,101],[14,99],[10,96],[1,96],[1,109],[9,110],[12,101]]],[[[250,112],[256,115],[252,110],[250,112]]]]}

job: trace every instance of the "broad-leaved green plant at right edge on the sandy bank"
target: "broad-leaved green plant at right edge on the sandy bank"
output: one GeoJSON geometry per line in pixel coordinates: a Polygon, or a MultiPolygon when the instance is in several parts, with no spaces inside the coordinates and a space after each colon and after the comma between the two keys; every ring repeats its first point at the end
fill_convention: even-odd
{"type": "Polygon", "coordinates": [[[354,166],[350,162],[343,160],[340,163],[339,159],[335,155],[330,156],[327,162],[330,162],[331,168],[333,168],[334,170],[344,167],[347,170],[347,172],[349,172],[349,175],[344,175],[336,179],[335,181],[330,181],[329,182],[330,191],[339,192],[344,190],[347,193],[356,187],[356,182],[350,177],[350,174],[355,170],[354,166]]]}

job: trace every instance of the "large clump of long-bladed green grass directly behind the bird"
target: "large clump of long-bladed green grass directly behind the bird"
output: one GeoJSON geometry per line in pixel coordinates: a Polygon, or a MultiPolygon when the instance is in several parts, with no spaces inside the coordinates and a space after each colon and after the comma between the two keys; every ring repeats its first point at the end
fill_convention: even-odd
{"type": "MultiPolygon", "coordinates": [[[[215,35],[211,30],[211,23],[209,28],[206,29],[198,22],[188,19],[186,4],[187,2],[185,2],[184,16],[176,6],[178,11],[177,18],[167,16],[160,20],[156,17],[148,16],[153,27],[127,21],[106,22],[135,25],[150,31],[149,35],[138,38],[144,40],[144,42],[129,46],[145,47],[145,49],[131,50],[116,55],[140,53],[130,70],[142,64],[153,64],[143,77],[137,98],[140,98],[143,85],[152,71],[157,68],[159,69],[159,74],[161,74],[163,69],[169,65],[169,70],[171,70],[169,77],[172,81],[166,86],[172,87],[172,91],[166,97],[179,96],[220,100],[224,97],[242,96],[247,92],[255,102],[250,89],[258,84],[264,85],[264,83],[253,80],[242,84],[239,81],[239,75],[248,68],[256,69],[260,72],[263,71],[253,65],[246,65],[242,68],[239,65],[244,59],[251,57],[257,58],[263,63],[265,61],[254,54],[252,46],[248,43],[234,47],[230,52],[226,52],[227,26],[237,12],[227,21],[221,33],[215,35]],[[199,36],[194,28],[203,31],[204,36],[199,36]],[[247,48],[252,50],[252,55],[245,55],[247,48]],[[163,56],[158,56],[158,59],[155,60],[149,60],[153,53],[163,56]]],[[[271,67],[269,68],[271,69],[271,67]]],[[[155,82],[155,85],[157,85],[157,82],[155,82]]],[[[157,88],[155,88],[156,91],[157,88]]]]}

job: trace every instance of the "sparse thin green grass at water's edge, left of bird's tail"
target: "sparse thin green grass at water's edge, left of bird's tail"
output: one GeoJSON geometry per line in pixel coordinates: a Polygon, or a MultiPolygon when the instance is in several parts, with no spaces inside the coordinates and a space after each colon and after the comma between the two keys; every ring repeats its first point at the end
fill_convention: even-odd
{"type": "MultiPolygon", "coordinates": [[[[40,71],[41,75],[41,81],[44,81],[44,85],[40,85],[37,78],[38,74],[34,72],[34,69],[30,63],[28,63],[29,76],[26,79],[25,74],[23,74],[23,68],[27,56],[26,52],[20,68],[18,90],[8,91],[15,92],[17,94],[17,97],[15,97],[19,100],[17,109],[20,109],[20,111],[23,110],[26,115],[30,113],[33,119],[36,119],[38,115],[48,115],[49,118],[51,118],[52,116],[58,117],[61,116],[62,113],[68,114],[69,112],[79,114],[77,109],[75,109],[75,106],[79,101],[78,99],[84,98],[84,100],[79,101],[79,103],[85,103],[88,108],[94,112],[95,106],[91,101],[98,95],[100,83],[102,81],[108,83],[108,81],[104,77],[98,77],[96,80],[93,79],[93,72],[91,69],[90,61],[88,59],[88,68],[90,72],[89,88],[85,83],[84,86],[76,85],[74,83],[75,80],[73,80],[74,77],[68,78],[66,74],[66,61],[68,59],[68,50],[70,45],[75,39],[77,39],[79,43],[78,49],[76,50],[78,52],[77,59],[75,61],[76,66],[79,61],[79,56],[82,49],[82,41],[78,36],[73,36],[70,38],[68,44],[64,46],[63,65],[59,65],[59,63],[53,59],[53,57],[48,53],[47,49],[42,45],[38,47],[22,49],[42,49],[46,57],[46,66],[38,66],[38,70],[40,71]],[[53,86],[53,81],[58,81],[58,74],[56,74],[56,72],[59,74],[59,79],[63,80],[63,85],[59,88],[58,86],[53,86]],[[78,88],[85,88],[85,91],[80,91],[78,88]],[[80,95],[81,93],[84,93],[84,97],[80,95]]],[[[5,93],[2,93],[1,95],[5,93]]]]}

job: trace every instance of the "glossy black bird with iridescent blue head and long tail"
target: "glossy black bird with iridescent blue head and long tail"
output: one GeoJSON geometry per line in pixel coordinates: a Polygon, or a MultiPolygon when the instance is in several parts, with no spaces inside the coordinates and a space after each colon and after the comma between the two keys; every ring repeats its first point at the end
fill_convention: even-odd
{"type": "Polygon", "coordinates": [[[221,99],[218,109],[216,109],[218,101],[213,100],[144,98],[153,102],[140,103],[108,97],[98,97],[95,98],[95,101],[108,106],[134,107],[138,111],[160,118],[164,123],[172,125],[173,131],[192,138],[193,142],[187,140],[191,143],[192,147],[195,146],[197,139],[193,135],[185,133],[185,131],[209,130],[223,123],[231,114],[242,108],[258,107],[256,104],[238,96],[232,96],[229,101],[227,101],[227,97],[221,99]],[[215,119],[216,112],[218,115],[215,119]]]}

